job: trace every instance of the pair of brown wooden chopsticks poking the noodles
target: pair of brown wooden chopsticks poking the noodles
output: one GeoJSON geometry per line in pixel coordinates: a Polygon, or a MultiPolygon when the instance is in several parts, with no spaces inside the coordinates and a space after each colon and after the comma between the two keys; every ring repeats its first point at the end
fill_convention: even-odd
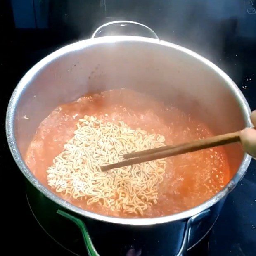
{"type": "Polygon", "coordinates": [[[170,156],[176,156],[179,154],[185,154],[188,152],[194,152],[201,149],[207,149],[210,147],[221,146],[229,143],[240,141],[240,131],[235,133],[226,133],[223,135],[218,135],[202,140],[195,140],[188,143],[183,143],[179,145],[170,145],[164,147],[158,147],[154,149],[148,149],[138,152],[133,152],[123,155],[124,160],[119,163],[109,164],[101,166],[102,171],[108,171],[114,168],[120,168],[123,166],[129,166],[133,164],[144,163],[147,161],[152,161],[156,159],[161,159],[170,156]]]}

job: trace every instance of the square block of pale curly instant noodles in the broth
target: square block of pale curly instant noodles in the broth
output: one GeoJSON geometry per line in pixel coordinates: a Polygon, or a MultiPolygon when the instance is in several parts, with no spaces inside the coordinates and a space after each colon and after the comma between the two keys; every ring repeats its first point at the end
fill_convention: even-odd
{"type": "Polygon", "coordinates": [[[48,185],[56,192],[86,204],[143,215],[157,203],[158,185],[163,181],[166,160],[102,172],[100,166],[123,160],[123,154],[164,146],[165,137],[131,129],[123,121],[112,123],[84,116],[64,151],[47,169],[48,185]]]}

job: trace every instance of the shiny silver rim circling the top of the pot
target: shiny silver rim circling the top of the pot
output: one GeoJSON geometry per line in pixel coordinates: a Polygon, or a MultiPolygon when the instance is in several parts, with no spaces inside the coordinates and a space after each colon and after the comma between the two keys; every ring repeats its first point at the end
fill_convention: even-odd
{"type": "Polygon", "coordinates": [[[163,45],[166,47],[171,47],[180,52],[184,52],[185,54],[190,55],[190,57],[194,57],[195,59],[199,60],[203,64],[207,65],[225,81],[226,86],[228,86],[228,88],[231,90],[232,94],[236,98],[237,102],[239,103],[239,106],[244,115],[244,121],[246,123],[246,126],[248,127],[251,126],[251,122],[250,122],[251,110],[244,95],[239,90],[237,85],[232,81],[232,79],[224,71],[222,71],[220,68],[218,68],[218,66],[210,62],[208,59],[202,57],[201,55],[191,50],[188,50],[185,47],[182,47],[180,45],[175,45],[173,43],[169,43],[159,39],[145,38],[145,37],[139,37],[139,36],[105,36],[100,38],[82,40],[82,41],[78,41],[76,43],[72,43],[70,45],[64,46],[59,50],[56,50],[55,52],[46,56],[42,60],[40,60],[23,76],[23,78],[21,78],[21,81],[18,83],[17,87],[15,88],[9,100],[7,114],[6,114],[6,135],[7,135],[7,141],[8,141],[8,145],[11,150],[12,156],[16,164],[18,165],[19,169],[21,170],[21,172],[25,175],[25,177],[29,180],[29,182],[32,183],[32,185],[34,185],[40,192],[42,192],[46,197],[48,197],[55,203],[59,204],[65,209],[78,213],[79,215],[82,215],[88,218],[93,218],[96,220],[109,222],[109,223],[126,224],[126,225],[153,225],[153,224],[167,223],[167,222],[172,222],[176,220],[183,220],[186,218],[190,218],[191,216],[194,216],[197,213],[200,213],[201,211],[204,211],[205,209],[213,206],[213,204],[216,204],[218,201],[220,201],[220,199],[225,197],[237,185],[239,180],[241,180],[242,177],[244,176],[250,164],[251,156],[249,156],[248,154],[244,154],[242,163],[237,173],[232,178],[232,180],[230,180],[230,182],[214,197],[212,197],[211,199],[205,201],[204,203],[198,206],[195,206],[192,209],[189,209],[180,213],[175,213],[173,215],[156,217],[156,218],[118,218],[118,217],[104,216],[101,214],[83,210],[77,206],[70,204],[64,199],[58,197],[56,194],[51,192],[50,189],[43,186],[36,179],[36,177],[31,173],[31,171],[26,166],[25,162],[22,160],[21,154],[19,153],[19,149],[17,147],[17,143],[14,135],[14,114],[16,111],[17,103],[19,102],[19,99],[22,93],[24,92],[24,90],[26,90],[26,87],[28,86],[31,79],[33,79],[33,77],[36,76],[36,73],[41,69],[43,69],[43,67],[46,66],[48,63],[72,51],[81,50],[86,47],[90,47],[92,45],[100,45],[104,43],[117,43],[117,42],[142,42],[142,43],[144,42],[144,43],[152,43],[152,45],[163,45]]]}

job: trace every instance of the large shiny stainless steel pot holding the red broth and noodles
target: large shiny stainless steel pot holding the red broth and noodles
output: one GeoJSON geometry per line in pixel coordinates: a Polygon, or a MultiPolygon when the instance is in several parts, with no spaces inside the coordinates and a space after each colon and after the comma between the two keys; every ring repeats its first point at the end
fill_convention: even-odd
{"type": "MultiPolygon", "coordinates": [[[[106,33],[111,26],[131,24],[141,25],[130,21],[112,22],[97,29],[93,37],[106,33]]],[[[95,237],[92,241],[96,243],[97,239],[102,239],[100,236],[104,235],[104,241],[115,235],[121,239],[127,232],[131,237],[141,237],[146,232],[145,243],[151,243],[149,238],[154,233],[159,234],[159,241],[165,237],[168,242],[158,241],[151,255],[182,255],[206,235],[218,217],[225,196],[247,170],[251,157],[242,152],[239,144],[226,147],[232,177],[223,190],[193,209],[159,218],[114,218],[73,206],[40,184],[23,160],[39,123],[55,107],[98,90],[130,88],[152,94],[198,116],[218,134],[250,126],[248,103],[227,74],[195,52],[159,40],[152,30],[149,33],[154,38],[91,38],[67,45],[42,59],[26,73],[13,92],[7,109],[7,139],[14,160],[40,194],[38,198],[49,204],[54,202],[56,209],[50,212],[44,203],[40,205],[40,200],[36,200],[41,212],[50,216],[62,208],[79,216],[90,232],[101,230],[92,234],[95,237]],[[163,252],[164,247],[167,249],[163,252]]]]}

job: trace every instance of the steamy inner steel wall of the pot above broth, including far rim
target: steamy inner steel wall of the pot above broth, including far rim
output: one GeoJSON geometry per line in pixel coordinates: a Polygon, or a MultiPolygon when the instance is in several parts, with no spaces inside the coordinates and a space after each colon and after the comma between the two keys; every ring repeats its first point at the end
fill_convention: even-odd
{"type": "MultiPolygon", "coordinates": [[[[88,92],[116,88],[137,90],[176,105],[216,134],[249,126],[249,107],[242,93],[208,60],[160,40],[112,36],[64,47],[28,71],[9,104],[7,129],[14,132],[12,138],[7,130],[9,143],[17,143],[24,156],[39,123],[55,107],[88,92]]],[[[226,146],[226,152],[234,176],[244,153],[239,144],[226,146]]]]}

